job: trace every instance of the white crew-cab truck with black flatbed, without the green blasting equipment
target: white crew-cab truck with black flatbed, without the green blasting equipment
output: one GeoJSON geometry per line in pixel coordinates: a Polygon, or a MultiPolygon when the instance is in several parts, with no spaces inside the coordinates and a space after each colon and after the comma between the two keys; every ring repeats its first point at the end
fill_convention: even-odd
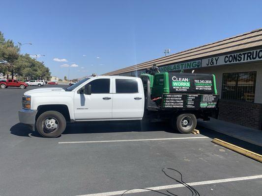
{"type": "Polygon", "coordinates": [[[44,137],[61,135],[66,122],[142,120],[148,115],[171,120],[181,133],[190,133],[196,118],[206,118],[205,111],[210,112],[151,107],[150,88],[144,90],[143,82],[139,77],[95,76],[68,88],[30,90],[22,98],[19,120],[44,137]]]}

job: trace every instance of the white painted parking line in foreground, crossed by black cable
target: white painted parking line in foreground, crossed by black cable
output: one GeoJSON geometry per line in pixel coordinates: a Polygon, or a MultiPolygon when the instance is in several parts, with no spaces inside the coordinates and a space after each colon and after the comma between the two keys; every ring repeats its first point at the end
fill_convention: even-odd
{"type": "MultiPolygon", "coordinates": [[[[223,182],[233,182],[233,181],[251,180],[251,179],[259,179],[259,178],[262,178],[262,175],[226,178],[226,179],[219,179],[219,180],[207,180],[207,181],[201,181],[201,182],[190,182],[190,183],[187,183],[187,184],[190,185],[190,186],[198,186],[198,185],[205,185],[205,184],[217,184],[217,183],[223,183],[223,182]]],[[[146,188],[146,189],[158,191],[158,190],[174,189],[174,188],[179,188],[179,187],[184,187],[184,185],[172,184],[172,185],[167,185],[167,186],[149,187],[149,188],[146,188]]],[[[80,196],[117,196],[117,195],[123,194],[125,191],[126,190],[106,192],[106,193],[87,194],[87,195],[80,195],[80,196]]],[[[145,190],[145,189],[134,189],[134,190],[127,192],[126,194],[141,193],[141,192],[148,192],[148,191],[149,190],[145,190]]]]}

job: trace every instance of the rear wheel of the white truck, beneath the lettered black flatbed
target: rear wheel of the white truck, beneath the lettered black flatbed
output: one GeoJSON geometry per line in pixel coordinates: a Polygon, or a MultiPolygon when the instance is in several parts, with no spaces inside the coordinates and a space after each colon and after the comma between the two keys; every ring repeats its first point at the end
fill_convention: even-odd
{"type": "Polygon", "coordinates": [[[197,126],[197,118],[194,114],[180,114],[172,120],[173,128],[180,133],[191,133],[197,126]]]}

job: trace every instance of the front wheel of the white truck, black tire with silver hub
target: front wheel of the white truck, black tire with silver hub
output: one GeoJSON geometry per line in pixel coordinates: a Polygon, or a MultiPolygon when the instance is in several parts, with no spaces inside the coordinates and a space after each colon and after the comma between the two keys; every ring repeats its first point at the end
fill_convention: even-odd
{"type": "Polygon", "coordinates": [[[58,111],[46,111],[36,120],[36,129],[40,135],[46,138],[56,138],[60,136],[66,127],[64,116],[58,111]],[[48,127],[46,128],[46,127],[48,127]],[[52,129],[52,127],[56,127],[52,129]]]}

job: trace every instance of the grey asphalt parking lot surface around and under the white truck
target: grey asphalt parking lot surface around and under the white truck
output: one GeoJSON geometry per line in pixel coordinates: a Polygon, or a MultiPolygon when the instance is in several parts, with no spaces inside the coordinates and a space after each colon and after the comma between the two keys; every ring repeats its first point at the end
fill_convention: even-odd
{"type": "MultiPolygon", "coordinates": [[[[21,96],[33,88],[0,89],[0,196],[116,196],[135,188],[193,195],[163,168],[181,172],[201,196],[262,195],[262,164],[211,140],[260,147],[202,127],[183,135],[148,122],[72,123],[61,137],[42,138],[18,120],[21,96]]],[[[160,195],[142,191],[126,195],[160,195]]]]}

